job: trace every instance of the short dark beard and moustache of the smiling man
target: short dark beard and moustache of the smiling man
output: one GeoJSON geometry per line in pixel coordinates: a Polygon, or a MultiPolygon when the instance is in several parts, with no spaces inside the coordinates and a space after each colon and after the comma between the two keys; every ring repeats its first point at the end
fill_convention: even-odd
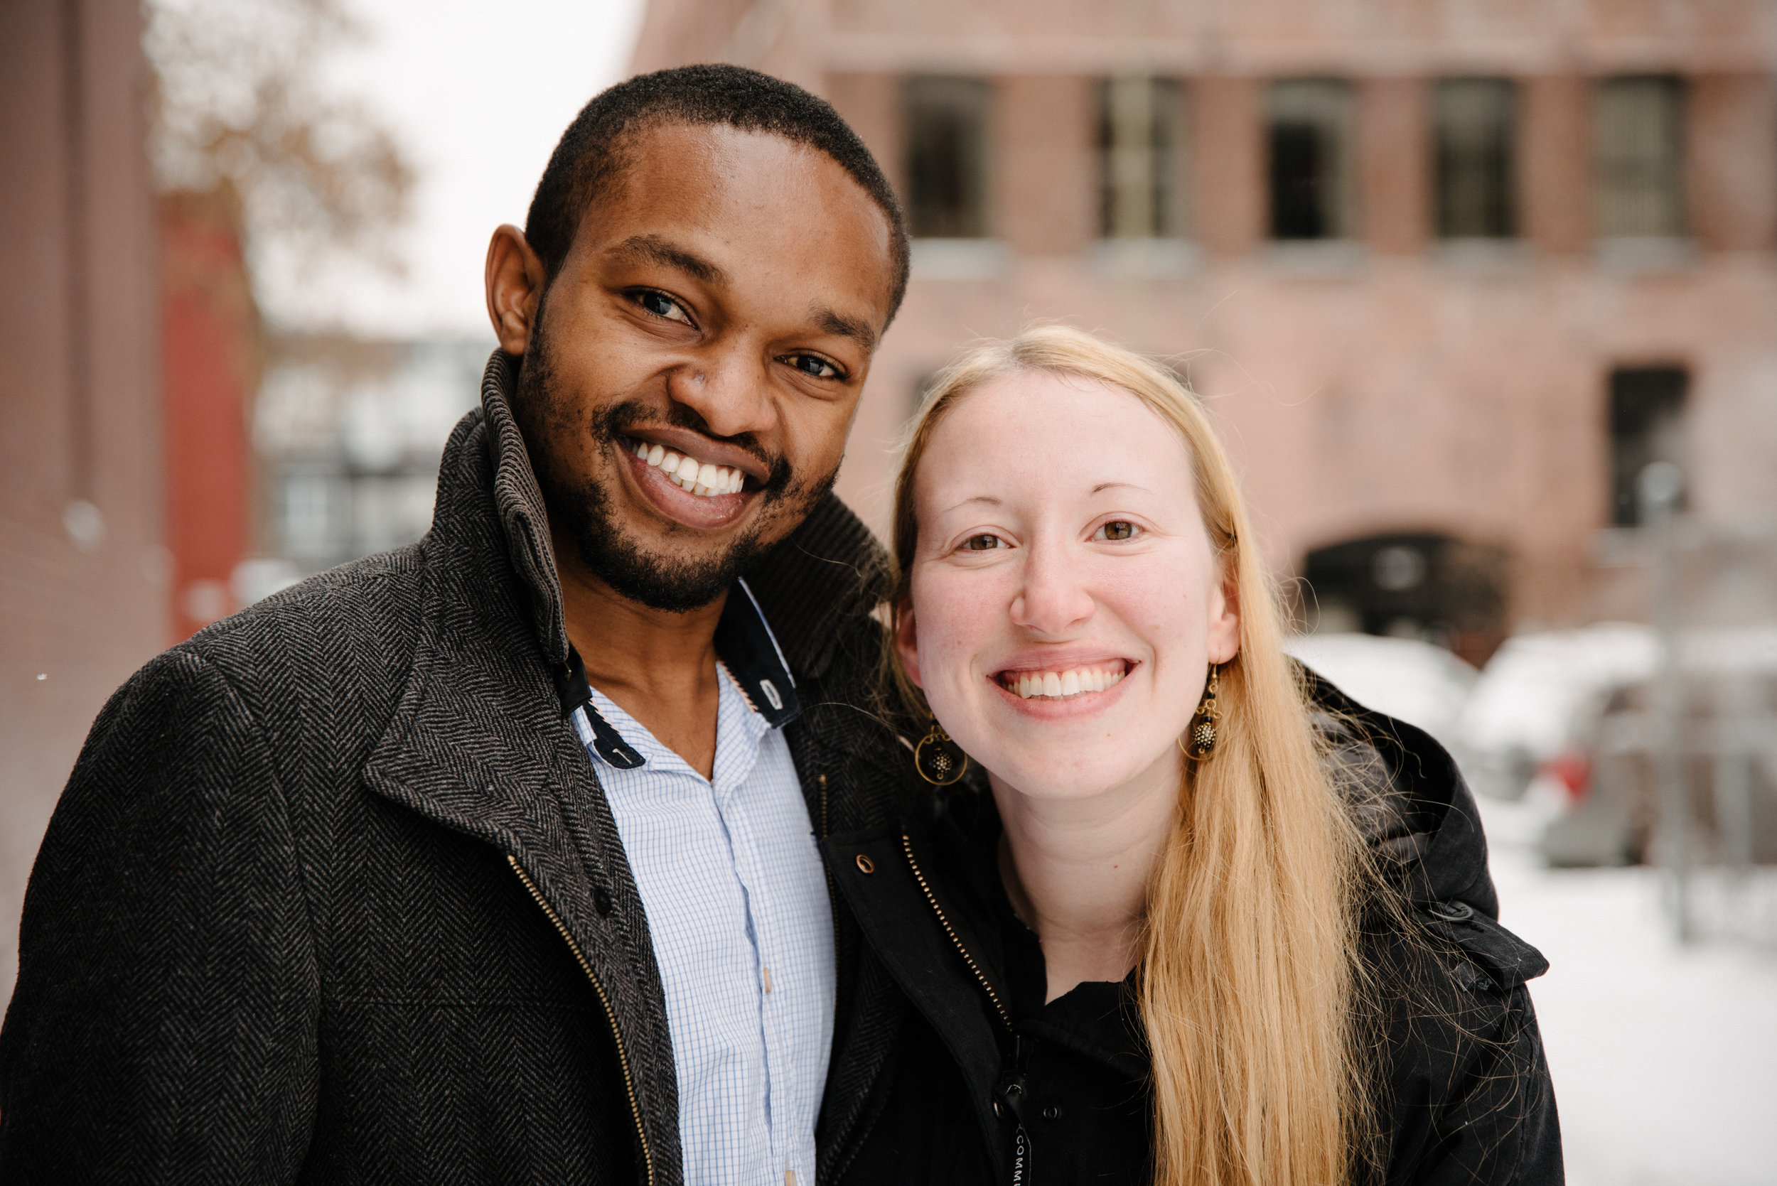
{"type": "MultiPolygon", "coordinates": [[[[542,327],[544,302],[538,302],[531,343],[519,364],[519,389],[512,412],[524,433],[531,469],[542,488],[551,522],[569,531],[581,563],[620,597],[666,613],[686,613],[709,605],[769,547],[764,534],[775,522],[782,518],[801,522],[814,504],[833,488],[833,479],[839,476],[837,467],[816,481],[800,481],[791,474],[789,462],[782,456],[768,456],[752,440],[752,433],[718,437],[709,431],[709,424],[693,408],[670,403],[665,415],[668,424],[745,447],[766,462],[768,476],[755,495],[762,506],[753,526],[716,556],[672,559],[649,552],[640,542],[624,534],[611,511],[611,494],[595,479],[576,483],[570,474],[563,472],[565,467],[556,463],[554,449],[572,433],[586,433],[597,446],[597,456],[615,456],[626,451],[618,442],[624,428],[657,424],[661,417],[641,401],[624,401],[601,408],[588,424],[578,424],[572,410],[563,407],[558,398],[542,327]]],[[[666,536],[691,531],[691,527],[672,526],[666,529],[666,536]]]]}

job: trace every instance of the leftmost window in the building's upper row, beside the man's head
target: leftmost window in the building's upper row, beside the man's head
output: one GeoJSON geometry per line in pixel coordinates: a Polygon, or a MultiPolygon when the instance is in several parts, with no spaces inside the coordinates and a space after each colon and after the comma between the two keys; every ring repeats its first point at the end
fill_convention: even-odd
{"type": "Polygon", "coordinates": [[[988,234],[990,101],[981,78],[908,78],[906,215],[915,238],[988,234]]]}

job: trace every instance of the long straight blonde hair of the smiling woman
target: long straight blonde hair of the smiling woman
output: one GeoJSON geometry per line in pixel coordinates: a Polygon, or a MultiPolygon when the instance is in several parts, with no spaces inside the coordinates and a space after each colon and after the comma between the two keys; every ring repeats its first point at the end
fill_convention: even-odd
{"type": "Polygon", "coordinates": [[[913,476],[935,426],[968,392],[1018,371],[1118,387],[1178,430],[1203,526],[1240,598],[1239,653],[1221,668],[1221,737],[1207,762],[1183,763],[1173,836],[1148,891],[1139,984],[1153,1181],[1345,1182],[1370,1111],[1354,1019],[1365,847],[1324,772],[1304,687],[1283,653],[1278,589],[1198,399],[1166,368],[1063,325],[972,350],[938,376],[908,437],[890,613],[908,598],[913,476]]]}

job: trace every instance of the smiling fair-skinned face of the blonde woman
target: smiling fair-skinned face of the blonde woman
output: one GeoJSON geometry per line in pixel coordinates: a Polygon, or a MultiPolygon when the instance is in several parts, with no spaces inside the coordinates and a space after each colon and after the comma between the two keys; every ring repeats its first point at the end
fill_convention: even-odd
{"type": "Polygon", "coordinates": [[[938,423],[913,502],[896,643],[945,731],[1036,797],[1176,769],[1239,646],[1178,430],[1118,387],[1009,375],[938,423]]]}

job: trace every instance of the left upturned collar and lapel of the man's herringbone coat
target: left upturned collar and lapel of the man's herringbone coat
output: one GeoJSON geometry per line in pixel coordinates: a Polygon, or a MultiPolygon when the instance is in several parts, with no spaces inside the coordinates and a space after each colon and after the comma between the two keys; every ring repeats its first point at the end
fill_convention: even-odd
{"type": "Polygon", "coordinates": [[[567,659],[567,627],[542,495],[505,401],[510,375],[496,352],[482,410],[444,449],[412,669],[363,778],[487,842],[515,879],[522,870],[597,982],[652,1181],[672,1186],[679,1108],[665,991],[617,822],[551,678],[567,659]]]}

